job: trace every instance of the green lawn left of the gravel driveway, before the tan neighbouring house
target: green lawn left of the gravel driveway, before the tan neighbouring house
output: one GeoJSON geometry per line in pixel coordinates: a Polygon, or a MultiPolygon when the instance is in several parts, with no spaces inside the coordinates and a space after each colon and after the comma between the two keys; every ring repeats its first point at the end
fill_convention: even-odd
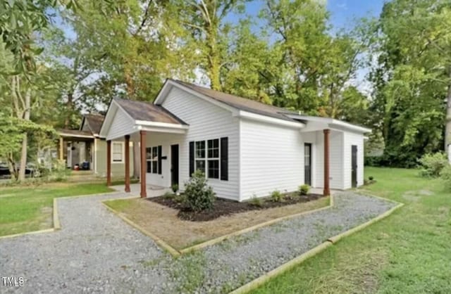
{"type": "Polygon", "coordinates": [[[53,199],[112,191],[105,184],[54,183],[0,188],[0,236],[49,229],[53,199]]]}

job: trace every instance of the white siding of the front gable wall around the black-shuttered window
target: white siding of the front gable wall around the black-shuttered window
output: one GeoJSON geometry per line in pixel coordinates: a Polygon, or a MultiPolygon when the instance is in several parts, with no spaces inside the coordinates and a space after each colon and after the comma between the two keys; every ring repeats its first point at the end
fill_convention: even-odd
{"type": "MultiPolygon", "coordinates": [[[[189,142],[228,137],[228,181],[209,179],[209,185],[217,196],[239,200],[238,119],[233,117],[230,111],[175,87],[171,89],[162,106],[190,125],[187,134],[180,136],[183,139],[178,142],[180,188],[184,189],[184,183],[189,178],[189,142]]],[[[157,141],[153,144],[162,145],[157,141]]]]}

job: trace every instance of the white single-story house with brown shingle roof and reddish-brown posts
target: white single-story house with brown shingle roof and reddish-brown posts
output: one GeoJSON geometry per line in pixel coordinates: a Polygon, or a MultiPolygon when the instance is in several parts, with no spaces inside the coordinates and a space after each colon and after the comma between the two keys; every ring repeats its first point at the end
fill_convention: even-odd
{"type": "MultiPolygon", "coordinates": [[[[109,145],[140,144],[142,197],[147,185],[178,184],[183,191],[194,170],[202,170],[218,197],[242,201],[301,184],[325,194],[361,186],[368,132],[167,79],[154,103],[114,98],[100,136],[109,145]]],[[[127,162],[125,154],[126,183],[127,162]]]]}

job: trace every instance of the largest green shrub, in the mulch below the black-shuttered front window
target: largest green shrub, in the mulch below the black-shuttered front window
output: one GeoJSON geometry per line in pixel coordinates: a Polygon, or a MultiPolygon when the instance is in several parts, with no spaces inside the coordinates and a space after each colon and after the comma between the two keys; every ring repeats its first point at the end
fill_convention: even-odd
{"type": "Polygon", "coordinates": [[[206,183],[205,174],[200,170],[185,183],[185,204],[195,212],[209,210],[214,205],[215,193],[206,183]]]}

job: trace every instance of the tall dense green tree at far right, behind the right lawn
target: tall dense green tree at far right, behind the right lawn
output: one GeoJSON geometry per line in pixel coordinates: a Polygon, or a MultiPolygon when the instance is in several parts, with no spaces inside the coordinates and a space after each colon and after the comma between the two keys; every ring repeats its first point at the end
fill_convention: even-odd
{"type": "Polygon", "coordinates": [[[449,1],[432,0],[393,0],[383,7],[371,110],[395,165],[416,165],[416,158],[449,140],[450,8],[449,1]]]}

